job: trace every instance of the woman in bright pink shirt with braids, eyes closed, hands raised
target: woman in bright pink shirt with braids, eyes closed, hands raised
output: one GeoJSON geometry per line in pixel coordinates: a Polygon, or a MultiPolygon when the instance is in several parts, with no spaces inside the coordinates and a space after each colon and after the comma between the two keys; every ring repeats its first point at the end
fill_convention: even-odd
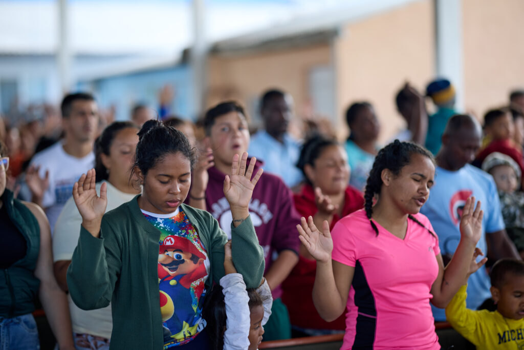
{"type": "Polygon", "coordinates": [[[440,349],[429,301],[445,307],[485,263],[474,260],[482,253],[475,245],[483,213],[472,197],[459,247],[444,268],[438,238],[419,214],[434,174],[430,152],[396,140],[375,158],[364,209],[339,220],[332,234],[328,222],[321,233],[311,217],[302,218],[300,240],[316,259],[316,310],[329,322],[347,309],[343,349],[440,349]]]}

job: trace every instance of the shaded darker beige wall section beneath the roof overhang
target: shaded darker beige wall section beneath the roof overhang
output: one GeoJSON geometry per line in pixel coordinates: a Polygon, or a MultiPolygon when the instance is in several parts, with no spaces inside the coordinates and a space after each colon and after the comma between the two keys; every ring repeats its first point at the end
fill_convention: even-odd
{"type": "Polygon", "coordinates": [[[236,99],[244,103],[249,112],[255,113],[261,94],[266,89],[278,88],[293,96],[296,113],[301,115],[309,105],[310,70],[330,65],[330,62],[329,44],[211,56],[206,105],[210,107],[225,99],[236,99]]]}

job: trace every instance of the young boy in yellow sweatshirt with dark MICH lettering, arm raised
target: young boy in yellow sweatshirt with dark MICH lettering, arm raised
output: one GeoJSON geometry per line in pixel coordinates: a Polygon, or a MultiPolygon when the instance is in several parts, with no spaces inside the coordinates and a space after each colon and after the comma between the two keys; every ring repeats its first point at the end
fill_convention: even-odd
{"type": "Polygon", "coordinates": [[[478,350],[524,349],[524,262],[500,259],[491,273],[497,311],[466,309],[466,285],[446,307],[447,321],[478,350]]]}

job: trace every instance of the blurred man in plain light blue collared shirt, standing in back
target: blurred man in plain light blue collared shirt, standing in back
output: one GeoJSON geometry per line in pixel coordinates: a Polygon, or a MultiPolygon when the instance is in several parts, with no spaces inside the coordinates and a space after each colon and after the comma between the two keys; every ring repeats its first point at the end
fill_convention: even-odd
{"type": "Polygon", "coordinates": [[[293,100],[280,90],[267,91],[260,103],[265,130],[251,138],[248,153],[264,161],[264,171],[282,178],[288,187],[298,185],[303,177],[296,167],[300,143],[287,133],[293,100]]]}

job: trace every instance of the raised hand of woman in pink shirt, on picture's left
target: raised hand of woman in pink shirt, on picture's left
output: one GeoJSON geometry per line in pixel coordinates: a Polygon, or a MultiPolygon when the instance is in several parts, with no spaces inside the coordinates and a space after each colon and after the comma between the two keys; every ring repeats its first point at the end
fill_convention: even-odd
{"type": "Polygon", "coordinates": [[[320,232],[313,223],[311,216],[307,221],[302,217],[300,225],[297,225],[297,230],[299,233],[298,238],[315,260],[321,262],[331,260],[333,240],[331,239],[328,221],[323,222],[322,232],[320,232]]]}

